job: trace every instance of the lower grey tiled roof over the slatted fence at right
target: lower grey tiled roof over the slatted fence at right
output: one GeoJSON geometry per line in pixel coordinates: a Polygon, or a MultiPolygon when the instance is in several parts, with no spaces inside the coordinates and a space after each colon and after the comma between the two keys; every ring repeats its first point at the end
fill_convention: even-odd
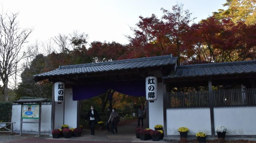
{"type": "Polygon", "coordinates": [[[163,79],[256,73],[256,60],[177,66],[163,79]]]}

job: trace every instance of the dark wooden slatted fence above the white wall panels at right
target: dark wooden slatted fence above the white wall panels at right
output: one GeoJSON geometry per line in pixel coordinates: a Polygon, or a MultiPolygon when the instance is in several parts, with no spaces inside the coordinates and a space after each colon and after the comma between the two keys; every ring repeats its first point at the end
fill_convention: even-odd
{"type": "MultiPolygon", "coordinates": [[[[208,91],[174,92],[167,94],[167,108],[209,108],[208,91]]],[[[214,107],[256,106],[256,88],[213,91],[214,107]]]]}

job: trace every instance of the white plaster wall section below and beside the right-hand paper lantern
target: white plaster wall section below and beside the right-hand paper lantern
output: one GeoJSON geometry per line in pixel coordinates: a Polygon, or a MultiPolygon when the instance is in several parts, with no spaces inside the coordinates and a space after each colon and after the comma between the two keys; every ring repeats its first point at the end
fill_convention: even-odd
{"type": "MultiPolygon", "coordinates": [[[[147,101],[149,102],[149,101],[147,101]]],[[[149,128],[154,129],[155,125],[164,125],[163,112],[163,83],[157,84],[157,100],[148,103],[149,128]]]]}

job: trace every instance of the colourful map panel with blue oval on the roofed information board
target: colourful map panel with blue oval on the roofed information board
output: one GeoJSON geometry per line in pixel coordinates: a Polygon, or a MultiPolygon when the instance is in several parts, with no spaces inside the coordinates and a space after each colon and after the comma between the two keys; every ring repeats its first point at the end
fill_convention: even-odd
{"type": "Polygon", "coordinates": [[[23,104],[22,119],[39,119],[39,104],[23,104]]]}

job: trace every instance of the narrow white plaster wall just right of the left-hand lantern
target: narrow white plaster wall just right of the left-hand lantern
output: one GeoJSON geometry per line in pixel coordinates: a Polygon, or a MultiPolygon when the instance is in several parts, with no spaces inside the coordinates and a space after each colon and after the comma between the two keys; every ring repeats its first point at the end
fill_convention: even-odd
{"type": "Polygon", "coordinates": [[[72,88],[66,89],[64,105],[64,124],[69,125],[69,128],[76,128],[77,104],[78,101],[73,101],[72,88]]]}

